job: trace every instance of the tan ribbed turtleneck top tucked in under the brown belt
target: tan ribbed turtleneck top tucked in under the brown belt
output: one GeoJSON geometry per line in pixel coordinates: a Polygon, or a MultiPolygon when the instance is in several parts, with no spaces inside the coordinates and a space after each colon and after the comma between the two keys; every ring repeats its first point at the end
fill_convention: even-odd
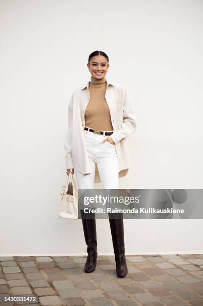
{"type": "Polygon", "coordinates": [[[85,126],[99,130],[113,130],[109,106],[106,102],[106,77],[91,76],[89,82],[90,99],[85,110],[85,126]]]}

